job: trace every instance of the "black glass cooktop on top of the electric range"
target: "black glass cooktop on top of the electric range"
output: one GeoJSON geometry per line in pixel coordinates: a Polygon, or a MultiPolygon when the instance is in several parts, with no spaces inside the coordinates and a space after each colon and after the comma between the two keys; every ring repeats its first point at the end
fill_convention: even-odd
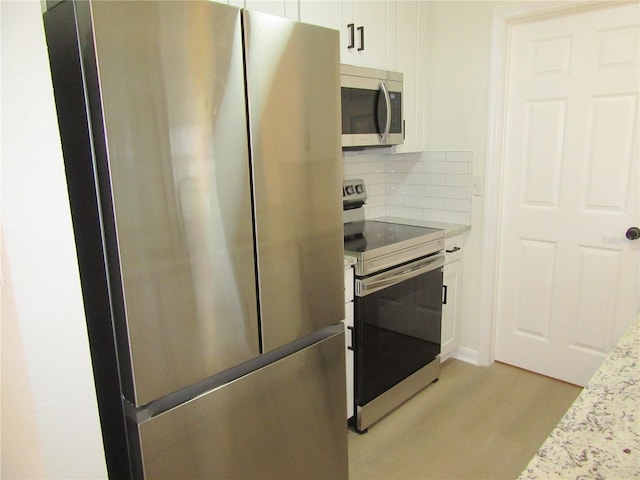
{"type": "Polygon", "coordinates": [[[444,232],[437,228],[372,220],[361,222],[361,225],[359,231],[345,237],[345,251],[363,253],[377,249],[389,250],[394,245],[402,249],[407,243],[429,242],[444,237],[444,232]]]}

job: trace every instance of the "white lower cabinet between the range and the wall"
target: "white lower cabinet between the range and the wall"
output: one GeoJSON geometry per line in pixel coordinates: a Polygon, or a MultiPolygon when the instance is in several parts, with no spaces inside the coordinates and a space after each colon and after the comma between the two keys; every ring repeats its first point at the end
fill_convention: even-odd
{"type": "Polygon", "coordinates": [[[444,298],[440,360],[449,358],[460,346],[462,309],[462,236],[445,240],[444,298]]]}

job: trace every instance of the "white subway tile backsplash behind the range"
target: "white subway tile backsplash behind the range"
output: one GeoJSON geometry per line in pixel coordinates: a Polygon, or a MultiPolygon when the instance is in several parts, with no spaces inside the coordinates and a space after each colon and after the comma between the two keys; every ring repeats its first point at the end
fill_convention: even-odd
{"type": "Polygon", "coordinates": [[[471,223],[473,152],[343,153],[344,178],[367,186],[367,218],[471,223]]]}

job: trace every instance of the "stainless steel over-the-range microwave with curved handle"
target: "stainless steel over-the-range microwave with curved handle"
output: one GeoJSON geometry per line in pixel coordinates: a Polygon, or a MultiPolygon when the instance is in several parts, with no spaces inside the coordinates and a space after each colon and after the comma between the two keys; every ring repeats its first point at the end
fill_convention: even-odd
{"type": "Polygon", "coordinates": [[[404,142],[402,73],[342,64],[340,85],[343,149],[404,142]]]}

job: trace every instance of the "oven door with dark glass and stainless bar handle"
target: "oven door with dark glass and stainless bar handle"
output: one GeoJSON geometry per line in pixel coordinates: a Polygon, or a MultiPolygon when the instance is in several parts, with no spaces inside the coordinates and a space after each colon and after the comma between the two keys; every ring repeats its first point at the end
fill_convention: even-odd
{"type": "Polygon", "coordinates": [[[440,353],[443,264],[444,256],[436,254],[356,280],[356,405],[366,405],[440,353]]]}

